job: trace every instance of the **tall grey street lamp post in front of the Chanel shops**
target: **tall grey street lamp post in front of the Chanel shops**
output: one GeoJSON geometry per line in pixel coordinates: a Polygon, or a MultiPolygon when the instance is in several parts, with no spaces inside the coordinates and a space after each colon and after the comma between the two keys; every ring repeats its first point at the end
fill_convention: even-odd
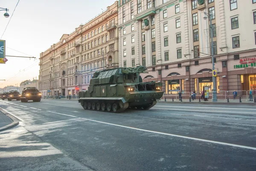
{"type": "MultiPolygon", "coordinates": [[[[211,52],[212,52],[212,72],[214,70],[214,48],[213,48],[213,27],[212,27],[212,14],[204,12],[204,20],[210,20],[210,34],[211,34],[211,52]]],[[[212,102],[217,102],[217,92],[216,92],[216,77],[212,75],[212,102]]]]}

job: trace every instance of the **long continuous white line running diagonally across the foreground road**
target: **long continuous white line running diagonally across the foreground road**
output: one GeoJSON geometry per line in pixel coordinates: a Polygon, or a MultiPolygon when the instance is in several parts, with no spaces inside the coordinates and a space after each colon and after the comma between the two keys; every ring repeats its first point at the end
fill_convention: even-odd
{"type": "Polygon", "coordinates": [[[248,147],[248,146],[244,146],[244,145],[236,145],[236,144],[212,141],[212,140],[207,140],[207,139],[199,139],[199,138],[193,138],[193,137],[189,137],[189,136],[180,136],[180,135],[175,135],[175,134],[171,134],[171,133],[157,132],[157,131],[153,131],[153,130],[144,130],[144,129],[140,129],[140,128],[134,128],[134,127],[128,127],[128,126],[124,126],[124,125],[111,124],[111,123],[108,123],[108,122],[102,122],[102,121],[80,118],[80,117],[77,117],[77,116],[72,116],[72,115],[67,115],[67,114],[57,113],[57,112],[52,112],[52,111],[47,111],[47,112],[56,113],[56,114],[64,115],[64,116],[70,116],[70,117],[73,117],[73,118],[84,119],[84,120],[92,121],[92,122],[98,122],[98,123],[107,124],[107,125],[113,125],[113,126],[122,127],[122,128],[140,130],[140,131],[144,131],[144,132],[157,133],[157,134],[162,134],[162,135],[167,135],[167,136],[175,136],[175,137],[179,137],[179,138],[192,139],[192,140],[196,140],[196,141],[210,142],[210,143],[214,143],[214,144],[221,144],[221,145],[228,145],[228,146],[233,146],[233,147],[247,148],[247,149],[251,149],[251,150],[256,150],[255,147],[248,147]]]}

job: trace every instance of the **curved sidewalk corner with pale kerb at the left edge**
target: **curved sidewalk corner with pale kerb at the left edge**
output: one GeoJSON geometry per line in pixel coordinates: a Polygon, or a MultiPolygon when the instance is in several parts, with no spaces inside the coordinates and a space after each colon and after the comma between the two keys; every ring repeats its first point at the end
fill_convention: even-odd
{"type": "Polygon", "coordinates": [[[12,128],[19,124],[19,121],[0,108],[0,131],[12,128]]]}

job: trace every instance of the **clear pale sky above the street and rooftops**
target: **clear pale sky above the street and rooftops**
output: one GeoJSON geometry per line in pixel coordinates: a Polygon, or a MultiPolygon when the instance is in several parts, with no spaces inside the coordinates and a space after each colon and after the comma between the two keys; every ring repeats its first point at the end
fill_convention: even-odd
{"type": "MultiPolygon", "coordinates": [[[[1,0],[0,8],[9,9],[11,17],[18,0],[1,0]]],[[[20,0],[2,40],[6,55],[34,56],[36,59],[6,57],[0,64],[0,88],[33,80],[39,75],[40,53],[59,41],[63,34],[70,34],[81,23],[85,23],[105,10],[114,0],[20,0]],[[25,71],[24,71],[25,70],[25,71]]],[[[10,19],[0,11],[0,37],[10,19]]]]}

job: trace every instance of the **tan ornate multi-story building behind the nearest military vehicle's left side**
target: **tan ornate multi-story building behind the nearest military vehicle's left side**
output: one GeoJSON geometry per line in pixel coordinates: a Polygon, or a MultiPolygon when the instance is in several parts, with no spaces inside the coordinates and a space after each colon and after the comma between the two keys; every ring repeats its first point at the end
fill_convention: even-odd
{"type": "Polygon", "coordinates": [[[118,67],[117,1],[40,54],[43,96],[87,90],[96,70],[118,67]]]}

